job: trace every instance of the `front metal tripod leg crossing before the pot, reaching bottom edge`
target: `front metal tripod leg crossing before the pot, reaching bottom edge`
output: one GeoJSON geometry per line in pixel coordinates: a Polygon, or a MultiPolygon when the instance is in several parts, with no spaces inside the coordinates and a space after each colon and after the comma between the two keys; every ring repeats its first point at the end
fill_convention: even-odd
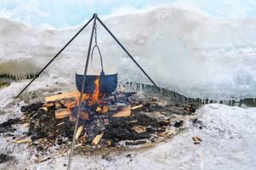
{"type": "Polygon", "coordinates": [[[72,156],[73,156],[73,151],[74,151],[74,145],[76,143],[77,125],[78,125],[78,119],[79,119],[80,110],[81,110],[81,104],[82,104],[82,94],[84,92],[85,76],[87,75],[87,70],[88,70],[88,61],[89,61],[90,54],[91,54],[91,48],[92,48],[92,42],[93,42],[93,38],[94,38],[94,28],[96,25],[97,14],[94,14],[93,18],[94,18],[94,25],[93,25],[92,34],[90,37],[90,42],[89,42],[89,46],[88,46],[88,54],[87,54],[86,64],[85,64],[83,78],[82,78],[82,89],[81,89],[81,94],[80,94],[79,103],[78,103],[77,118],[76,118],[76,125],[75,125],[75,130],[74,130],[72,144],[71,144],[71,152],[70,152],[70,156],[69,156],[69,160],[68,160],[68,167],[67,167],[68,170],[71,170],[71,162],[72,162],[72,156]]]}

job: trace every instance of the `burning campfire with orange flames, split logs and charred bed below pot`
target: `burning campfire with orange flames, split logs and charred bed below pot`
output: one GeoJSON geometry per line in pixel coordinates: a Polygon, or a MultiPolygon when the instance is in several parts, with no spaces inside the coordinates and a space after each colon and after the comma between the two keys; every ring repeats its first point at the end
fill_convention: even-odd
{"type": "MultiPolygon", "coordinates": [[[[162,100],[148,94],[117,90],[99,94],[100,77],[94,81],[94,93],[83,94],[76,132],[76,144],[86,150],[148,146],[179,133],[184,121],[175,116],[191,114],[189,107],[162,105],[162,100]],[[173,109],[173,111],[171,110],[173,109]]],[[[42,103],[21,107],[23,124],[29,126],[28,142],[37,151],[55,144],[69,145],[74,133],[80,92],[46,97],[42,103]]],[[[194,108],[192,108],[194,109],[194,108]]]]}

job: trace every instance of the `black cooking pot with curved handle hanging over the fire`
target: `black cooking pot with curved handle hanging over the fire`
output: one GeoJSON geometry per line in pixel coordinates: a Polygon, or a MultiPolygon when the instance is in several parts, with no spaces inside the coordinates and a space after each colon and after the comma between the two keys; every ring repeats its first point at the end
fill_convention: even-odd
{"type": "MultiPolygon", "coordinates": [[[[97,45],[94,45],[94,48],[97,48],[100,54],[100,48],[97,45]]],[[[94,48],[92,50],[92,59],[93,59],[93,54],[94,54],[94,48]]],[[[117,74],[110,74],[110,75],[105,75],[103,71],[103,62],[102,62],[102,57],[100,54],[100,62],[101,62],[101,73],[100,75],[86,75],[84,76],[85,78],[85,84],[84,84],[84,89],[83,89],[83,94],[94,94],[94,82],[95,80],[100,77],[100,92],[99,94],[106,94],[109,95],[112,92],[114,92],[117,88],[117,74]]],[[[76,85],[77,85],[77,90],[81,92],[82,90],[82,79],[83,75],[78,75],[76,73],[76,85]]]]}

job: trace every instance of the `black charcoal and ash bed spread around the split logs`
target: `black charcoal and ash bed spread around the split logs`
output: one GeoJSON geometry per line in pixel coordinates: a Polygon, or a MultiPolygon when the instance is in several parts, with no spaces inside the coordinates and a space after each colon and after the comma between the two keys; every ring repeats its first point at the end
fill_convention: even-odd
{"type": "MultiPolygon", "coordinates": [[[[139,145],[145,144],[148,141],[152,143],[156,142],[159,138],[158,134],[165,132],[168,127],[172,126],[170,118],[168,118],[170,114],[165,114],[164,116],[168,117],[165,118],[166,120],[161,121],[159,117],[153,116],[154,114],[152,115],[150,112],[166,111],[170,113],[169,108],[174,108],[172,106],[166,108],[166,106],[148,102],[150,100],[156,101],[156,99],[138,98],[138,96],[134,96],[134,94],[136,93],[124,92],[122,95],[112,94],[94,103],[91,102],[90,98],[85,99],[82,102],[81,111],[88,114],[89,120],[78,120],[78,126],[82,125],[83,129],[77,142],[82,144],[82,146],[93,147],[92,141],[101,133],[103,133],[103,136],[100,142],[94,144],[97,145],[96,148],[106,146],[114,147],[120,146],[120,144],[124,144],[123,146],[139,145]],[[139,109],[131,110],[130,116],[112,117],[113,114],[128,105],[143,106],[139,109]],[[103,111],[104,106],[108,108],[107,111],[103,111]],[[98,107],[100,107],[100,110],[98,107]]],[[[40,102],[21,107],[21,111],[26,114],[26,121],[30,123],[27,136],[31,137],[31,144],[35,146],[37,152],[44,152],[49,146],[71,142],[75,122],[71,121],[70,116],[66,116],[63,119],[55,119],[55,111],[60,110],[60,108],[71,109],[71,117],[76,117],[77,105],[71,108],[67,107],[67,104],[74,103],[74,101],[75,99],[56,101],[59,104],[61,103],[61,105],[58,107],[48,106],[47,110],[40,109],[43,106],[43,103],[40,102]],[[43,144],[38,142],[38,139],[43,139],[43,144]]],[[[56,102],[53,102],[55,106],[56,102]]],[[[183,108],[178,109],[183,112],[183,108]]],[[[3,125],[0,124],[0,133],[1,130],[4,130],[4,132],[14,131],[11,126],[14,122],[15,121],[12,122],[12,120],[9,120],[9,122],[5,122],[3,125]]],[[[183,121],[174,123],[174,127],[180,127],[182,125],[183,121]]],[[[111,161],[108,156],[103,156],[103,159],[111,161]]]]}

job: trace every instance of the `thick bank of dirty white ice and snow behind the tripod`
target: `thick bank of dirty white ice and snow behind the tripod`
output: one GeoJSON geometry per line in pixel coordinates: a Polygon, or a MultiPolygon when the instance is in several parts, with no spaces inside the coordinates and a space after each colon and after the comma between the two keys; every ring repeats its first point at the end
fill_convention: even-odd
{"type": "MultiPolygon", "coordinates": [[[[256,96],[254,19],[220,20],[179,8],[157,8],[104,21],[162,87],[191,97],[256,96]]],[[[78,29],[40,31],[1,19],[0,74],[37,72],[78,29]]],[[[90,31],[91,26],[45,74],[74,81],[74,73],[84,68],[90,31]]],[[[108,71],[117,71],[125,81],[148,82],[100,26],[98,37],[108,71]]],[[[99,61],[95,55],[89,70],[99,70],[99,61]]]]}

